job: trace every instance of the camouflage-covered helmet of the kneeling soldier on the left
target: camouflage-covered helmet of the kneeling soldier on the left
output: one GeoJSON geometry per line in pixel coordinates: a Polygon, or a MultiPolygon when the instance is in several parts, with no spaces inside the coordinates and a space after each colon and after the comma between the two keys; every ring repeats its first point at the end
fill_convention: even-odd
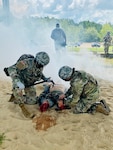
{"type": "Polygon", "coordinates": [[[37,53],[35,59],[37,63],[42,66],[47,65],[50,61],[50,58],[46,52],[37,53]]]}

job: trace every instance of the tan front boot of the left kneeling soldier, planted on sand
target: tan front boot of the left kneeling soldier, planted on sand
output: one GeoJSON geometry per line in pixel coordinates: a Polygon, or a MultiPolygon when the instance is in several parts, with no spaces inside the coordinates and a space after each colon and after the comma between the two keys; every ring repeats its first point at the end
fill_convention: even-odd
{"type": "Polygon", "coordinates": [[[34,114],[31,114],[26,108],[25,108],[25,105],[23,103],[20,103],[19,104],[24,116],[26,118],[33,118],[35,115],[34,114]]]}

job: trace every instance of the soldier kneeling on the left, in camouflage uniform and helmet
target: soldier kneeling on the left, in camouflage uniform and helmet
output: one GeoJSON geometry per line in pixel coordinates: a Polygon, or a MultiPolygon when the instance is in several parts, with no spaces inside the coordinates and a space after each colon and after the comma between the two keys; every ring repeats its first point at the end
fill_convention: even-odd
{"type": "MultiPolygon", "coordinates": [[[[50,58],[45,52],[37,53],[35,58],[31,55],[29,58],[28,55],[22,55],[14,65],[4,69],[7,70],[7,75],[12,78],[14,102],[18,103],[20,107],[24,108],[24,103],[32,105],[37,103],[36,89],[33,84],[41,79],[45,82],[50,81],[50,78],[46,78],[42,73],[43,67],[49,61],[50,58]],[[25,96],[23,96],[23,89],[25,96]]],[[[27,109],[24,110],[24,115],[30,117],[27,109]]]]}

